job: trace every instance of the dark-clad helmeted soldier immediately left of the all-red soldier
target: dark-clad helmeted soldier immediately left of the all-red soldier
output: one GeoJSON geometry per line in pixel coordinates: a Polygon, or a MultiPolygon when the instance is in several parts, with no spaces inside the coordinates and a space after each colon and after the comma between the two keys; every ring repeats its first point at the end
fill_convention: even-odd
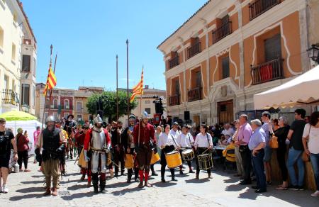
{"type": "MultiPolygon", "coordinates": [[[[123,140],[123,145],[125,149],[125,155],[132,155],[134,157],[134,160],[136,159],[135,155],[135,145],[134,145],[134,138],[133,138],[133,130],[135,125],[136,118],[133,114],[131,114],[128,118],[128,124],[129,126],[123,130],[123,133],[121,134],[121,140],[123,140]]],[[[130,157],[130,156],[126,156],[130,157]]],[[[138,180],[138,168],[135,167],[135,162],[133,160],[133,167],[128,168],[128,183],[130,183],[130,180],[132,179],[133,175],[133,168],[134,168],[134,179],[135,181],[138,180]]],[[[125,160],[125,166],[128,164],[128,162],[125,160]]]]}

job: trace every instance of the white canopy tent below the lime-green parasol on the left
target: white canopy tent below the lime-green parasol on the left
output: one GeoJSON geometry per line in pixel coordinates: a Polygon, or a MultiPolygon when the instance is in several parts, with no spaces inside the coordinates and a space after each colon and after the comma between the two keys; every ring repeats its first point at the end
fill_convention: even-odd
{"type": "Polygon", "coordinates": [[[33,133],[35,132],[37,126],[42,126],[42,123],[36,120],[29,121],[6,121],[6,128],[11,128],[13,130],[13,134],[16,135],[16,130],[18,128],[22,128],[23,132],[26,130],[28,132],[29,142],[29,155],[34,155],[34,138],[33,133]]]}

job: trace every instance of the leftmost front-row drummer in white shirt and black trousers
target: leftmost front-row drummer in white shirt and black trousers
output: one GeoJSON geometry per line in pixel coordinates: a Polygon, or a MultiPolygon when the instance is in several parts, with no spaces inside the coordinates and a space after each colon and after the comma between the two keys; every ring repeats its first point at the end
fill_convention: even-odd
{"type": "MultiPolygon", "coordinates": [[[[164,126],[164,133],[162,133],[159,136],[159,140],[158,140],[158,145],[161,147],[162,149],[162,153],[161,153],[161,181],[165,182],[164,179],[164,174],[165,174],[165,167],[167,165],[167,160],[165,157],[165,154],[169,153],[169,152],[173,152],[175,149],[177,149],[179,146],[177,145],[177,140],[175,140],[174,136],[169,133],[170,130],[170,126],[167,124],[164,126]]],[[[172,174],[172,181],[177,181],[177,179],[175,179],[175,169],[174,168],[170,168],[169,169],[171,171],[172,174]]]]}

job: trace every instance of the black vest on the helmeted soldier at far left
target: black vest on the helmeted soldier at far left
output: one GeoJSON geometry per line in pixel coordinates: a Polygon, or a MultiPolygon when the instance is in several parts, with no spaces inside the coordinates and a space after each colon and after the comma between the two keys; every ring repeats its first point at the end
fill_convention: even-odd
{"type": "Polygon", "coordinates": [[[47,128],[43,130],[43,151],[48,154],[55,153],[60,147],[60,129],[50,131],[47,128]]]}

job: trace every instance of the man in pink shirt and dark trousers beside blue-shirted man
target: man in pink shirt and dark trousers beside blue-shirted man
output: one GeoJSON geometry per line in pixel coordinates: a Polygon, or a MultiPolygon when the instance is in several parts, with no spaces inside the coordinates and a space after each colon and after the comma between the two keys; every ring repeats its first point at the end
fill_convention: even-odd
{"type": "Polygon", "coordinates": [[[242,114],[240,116],[240,130],[238,130],[238,141],[235,145],[240,147],[240,155],[242,157],[242,165],[244,172],[242,177],[244,179],[240,181],[241,185],[252,184],[252,179],[250,178],[250,169],[252,164],[252,157],[250,149],[248,148],[248,143],[250,142],[250,136],[252,135],[252,127],[248,123],[248,116],[242,114]]]}

